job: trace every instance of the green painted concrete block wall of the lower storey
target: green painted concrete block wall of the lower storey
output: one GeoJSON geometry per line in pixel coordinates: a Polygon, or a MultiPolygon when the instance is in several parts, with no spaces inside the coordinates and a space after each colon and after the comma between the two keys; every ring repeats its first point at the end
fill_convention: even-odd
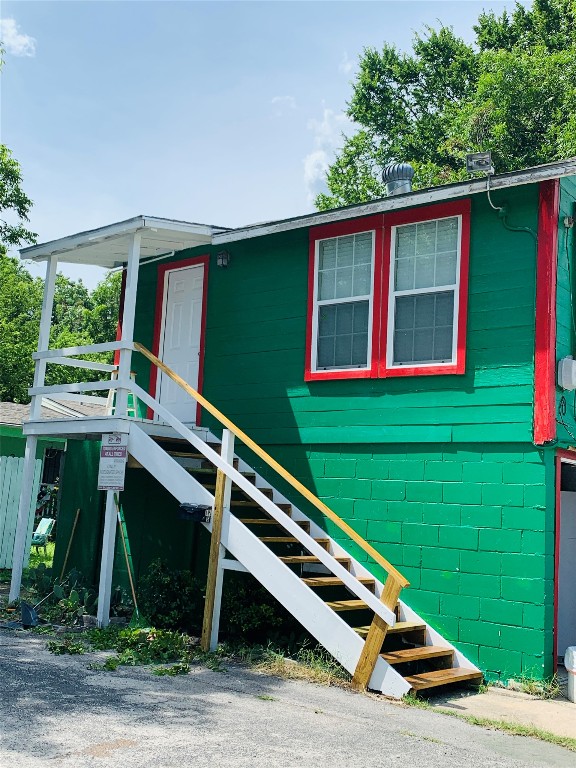
{"type": "MultiPolygon", "coordinates": [[[[530,444],[269,449],[410,579],[402,599],[489,678],[551,674],[551,451],[530,444]]],[[[336,526],[323,527],[383,577],[336,526]]]]}

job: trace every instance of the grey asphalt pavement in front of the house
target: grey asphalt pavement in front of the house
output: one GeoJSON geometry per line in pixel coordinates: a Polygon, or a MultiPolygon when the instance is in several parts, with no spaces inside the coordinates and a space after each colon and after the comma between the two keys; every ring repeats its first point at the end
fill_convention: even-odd
{"type": "Polygon", "coordinates": [[[576,754],[381,697],[239,665],[157,677],[94,671],[46,639],[0,630],[0,766],[525,768],[576,754]]]}

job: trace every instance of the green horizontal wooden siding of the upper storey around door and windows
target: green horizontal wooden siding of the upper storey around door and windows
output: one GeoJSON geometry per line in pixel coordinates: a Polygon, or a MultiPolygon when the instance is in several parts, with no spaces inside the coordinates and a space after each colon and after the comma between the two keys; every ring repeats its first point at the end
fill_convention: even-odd
{"type": "MultiPolygon", "coordinates": [[[[514,226],[536,228],[538,188],[495,193],[514,226]]],[[[308,230],[231,243],[212,256],[204,394],[262,443],[531,440],[536,248],[472,198],[463,376],[304,382],[308,230]]],[[[135,338],[151,346],[157,264],[141,268],[135,338]]],[[[135,356],[137,381],[149,368],[135,356]]],[[[207,420],[206,424],[210,425],[207,420]]]]}

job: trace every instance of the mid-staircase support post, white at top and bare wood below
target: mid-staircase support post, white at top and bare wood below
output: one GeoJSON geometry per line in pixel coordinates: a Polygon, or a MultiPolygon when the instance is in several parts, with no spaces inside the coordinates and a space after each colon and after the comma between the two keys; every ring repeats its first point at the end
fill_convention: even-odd
{"type": "MultiPolygon", "coordinates": [[[[222,431],[220,455],[228,464],[233,465],[234,435],[228,429],[222,431]]],[[[203,651],[214,650],[218,645],[220,604],[224,577],[224,569],[222,568],[224,548],[221,544],[222,523],[224,516],[230,514],[231,493],[232,481],[223,470],[218,469],[216,473],[216,490],[214,492],[214,509],[212,511],[212,536],[210,539],[210,558],[206,579],[206,602],[204,603],[202,639],[200,641],[203,651]]]]}

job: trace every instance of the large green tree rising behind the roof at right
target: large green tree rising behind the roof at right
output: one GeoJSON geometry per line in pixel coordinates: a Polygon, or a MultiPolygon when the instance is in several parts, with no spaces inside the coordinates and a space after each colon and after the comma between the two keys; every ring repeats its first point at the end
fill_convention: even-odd
{"type": "Polygon", "coordinates": [[[476,44],[427,27],[411,54],[365,49],[348,104],[358,131],[328,169],[324,210],[384,195],[389,162],[414,187],[467,178],[466,152],[491,150],[497,171],[576,154],[576,0],[482,13],[476,44]]]}

